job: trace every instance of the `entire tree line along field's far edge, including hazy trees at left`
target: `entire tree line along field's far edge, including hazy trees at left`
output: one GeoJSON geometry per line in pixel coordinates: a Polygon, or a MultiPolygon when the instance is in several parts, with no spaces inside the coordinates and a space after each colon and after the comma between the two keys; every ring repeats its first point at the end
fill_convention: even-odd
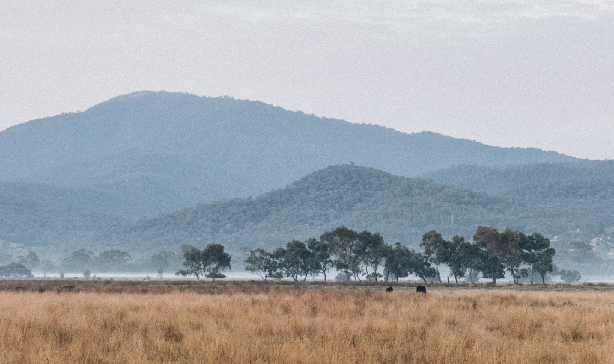
{"type": "MultiPolygon", "coordinates": [[[[540,233],[526,235],[509,228],[499,232],[494,227],[478,227],[472,241],[465,241],[458,235],[445,240],[441,233],[430,230],[422,235],[420,246],[422,252],[400,243],[389,245],[379,233],[366,230],[359,233],[341,226],[323,233],[319,239],[292,240],[285,248],[279,247],[272,252],[262,248],[249,250],[244,262],[247,271],[265,280],[291,278],[293,281],[305,281],[308,276],[320,274],[327,281],[327,274],[334,268],[340,272],[339,277],[347,281],[398,281],[399,278],[414,275],[424,282],[429,279],[442,282],[441,268],[445,266],[448,267],[445,277],[448,282],[451,278],[458,282],[465,277],[474,282],[481,276],[496,283],[497,279],[505,278],[509,273],[518,284],[529,277],[532,283],[535,273],[545,282],[545,276],[557,270],[553,264],[555,250],[551,248],[550,240],[540,233]]],[[[209,244],[203,250],[182,245],[181,252],[185,269],[177,270],[177,275],[215,280],[225,278],[221,272],[230,269],[231,257],[224,252],[223,245],[209,244]]],[[[157,267],[158,276],[161,277],[171,262],[179,263],[179,257],[179,254],[160,251],[139,265],[157,267]]],[[[85,272],[90,272],[90,267],[98,270],[128,268],[131,260],[127,252],[116,249],[103,251],[98,256],[81,249],[60,259],[58,265],[83,270],[85,275],[85,272]]],[[[0,276],[29,276],[26,273],[35,267],[43,271],[57,268],[51,265],[54,265],[53,262],[39,259],[30,251],[26,256],[18,257],[17,262],[0,266],[0,276]]],[[[580,279],[578,271],[561,270],[559,274],[564,281],[580,279]]],[[[60,273],[60,276],[63,274],[60,273]]]]}

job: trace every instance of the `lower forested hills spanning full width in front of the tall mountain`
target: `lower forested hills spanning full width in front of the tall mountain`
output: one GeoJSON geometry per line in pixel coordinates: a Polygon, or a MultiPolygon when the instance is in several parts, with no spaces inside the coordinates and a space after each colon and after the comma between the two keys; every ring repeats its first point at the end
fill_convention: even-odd
{"type": "Polygon", "coordinates": [[[136,222],[45,199],[50,187],[44,184],[27,191],[2,186],[8,192],[0,194],[0,236],[54,258],[81,248],[139,256],[212,242],[238,257],[243,248],[274,249],[342,225],[414,248],[431,229],[447,238],[470,238],[478,226],[509,226],[543,233],[557,249],[583,240],[597,241],[604,257],[614,251],[614,180],[607,178],[542,181],[489,195],[371,167],[333,165],[255,198],[198,204],[136,222]]]}

